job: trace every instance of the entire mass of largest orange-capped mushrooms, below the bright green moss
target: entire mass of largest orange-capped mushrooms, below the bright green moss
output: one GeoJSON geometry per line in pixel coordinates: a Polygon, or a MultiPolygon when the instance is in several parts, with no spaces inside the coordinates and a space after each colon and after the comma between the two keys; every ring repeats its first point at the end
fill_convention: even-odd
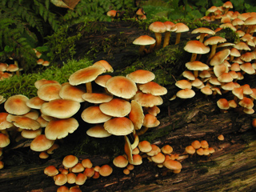
{"type": "Polygon", "coordinates": [[[34,98],[22,94],[1,98],[6,112],[0,118],[0,147],[9,145],[10,140],[33,139],[30,149],[47,158],[58,148],[59,139],[78,129],[74,115],[82,104],[82,120],[94,125],[86,134],[96,138],[130,134],[134,141],[129,147],[134,149],[138,134],[159,125],[158,106],[167,90],[153,82],[155,76],[147,70],[136,70],[127,77],[112,77],[105,72],[113,72],[113,68],[100,60],[74,72],[62,85],[46,79],[34,82],[38,89],[34,98]]]}

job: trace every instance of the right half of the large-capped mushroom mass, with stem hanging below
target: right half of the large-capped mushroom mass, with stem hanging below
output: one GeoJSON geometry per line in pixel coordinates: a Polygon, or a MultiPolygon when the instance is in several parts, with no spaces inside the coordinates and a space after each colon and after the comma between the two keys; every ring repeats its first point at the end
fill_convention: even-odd
{"type": "Polygon", "coordinates": [[[130,151],[138,146],[138,136],[160,124],[156,117],[160,112],[158,106],[162,105],[161,96],[167,90],[153,82],[154,78],[148,70],[135,70],[126,77],[103,74],[95,79],[101,86],[98,92],[82,94],[90,103],[82,111],[82,120],[94,125],[86,134],[94,138],[124,136],[130,163],[133,162],[130,151]]]}

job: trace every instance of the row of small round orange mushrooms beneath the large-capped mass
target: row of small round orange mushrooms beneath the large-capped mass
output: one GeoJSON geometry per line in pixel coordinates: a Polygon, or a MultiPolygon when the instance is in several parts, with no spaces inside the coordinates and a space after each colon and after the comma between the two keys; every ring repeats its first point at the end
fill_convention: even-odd
{"type": "MultiPolygon", "coordinates": [[[[44,174],[54,179],[54,183],[58,187],[57,191],[69,191],[66,185],[74,185],[70,190],[76,187],[77,191],[80,186],[84,185],[90,178],[97,179],[99,177],[108,177],[113,173],[112,166],[123,169],[123,174],[130,174],[134,170],[134,166],[142,164],[142,158],[147,158],[149,162],[159,168],[166,167],[167,170],[178,174],[182,170],[181,161],[184,157],[173,153],[173,148],[166,144],[160,149],[157,145],[150,144],[147,141],[141,141],[138,146],[132,150],[134,161],[129,162],[126,154],[118,155],[113,159],[111,165],[104,164],[94,166],[89,158],[78,159],[76,156],[70,154],[62,160],[61,166],[47,166],[44,169],[44,174]]],[[[187,158],[185,156],[185,158],[187,158]]]]}

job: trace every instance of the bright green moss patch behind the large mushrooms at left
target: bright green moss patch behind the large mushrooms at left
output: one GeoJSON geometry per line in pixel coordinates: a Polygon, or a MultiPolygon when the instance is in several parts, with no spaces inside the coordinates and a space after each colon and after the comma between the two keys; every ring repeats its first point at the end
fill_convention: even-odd
{"type": "Polygon", "coordinates": [[[59,83],[68,82],[70,74],[90,66],[91,63],[92,62],[87,58],[83,58],[79,61],[70,60],[63,63],[61,68],[54,65],[50,66],[42,73],[22,74],[21,76],[14,75],[12,78],[0,82],[0,95],[4,96],[4,98],[9,98],[15,94],[24,94],[28,98],[33,98],[37,96],[37,89],[34,86],[34,82],[37,80],[46,78],[56,80],[59,83]]]}

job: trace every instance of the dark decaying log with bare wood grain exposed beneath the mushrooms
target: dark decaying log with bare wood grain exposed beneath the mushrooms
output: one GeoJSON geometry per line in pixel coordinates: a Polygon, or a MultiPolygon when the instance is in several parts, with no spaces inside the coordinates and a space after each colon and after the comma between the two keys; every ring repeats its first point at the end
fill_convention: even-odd
{"type": "MultiPolygon", "coordinates": [[[[126,38],[130,39],[131,34],[138,36],[142,30],[131,30],[126,26],[122,28],[126,38]]],[[[103,34],[99,39],[104,39],[109,34],[103,34]]],[[[91,41],[84,38],[78,42],[78,47],[85,42],[91,41]]],[[[130,43],[129,42],[129,43],[130,43]]],[[[128,43],[128,42],[127,42],[128,43]]],[[[122,47],[123,48],[123,47],[122,47]]],[[[86,47],[86,49],[89,49],[86,47]]],[[[128,50],[134,47],[128,47],[128,50]]],[[[117,49],[118,50],[118,49],[117,49]]],[[[84,54],[86,50],[78,53],[84,54]]],[[[113,50],[111,50],[113,51],[113,50]]],[[[98,53],[97,59],[104,59],[110,52],[98,53]],[[105,54],[104,54],[105,53],[105,54]]],[[[134,62],[138,55],[134,51],[120,50],[113,59],[114,66],[120,61],[127,60],[134,62]],[[119,54],[118,54],[119,53],[119,54]],[[135,58],[134,58],[135,57],[135,58]]],[[[155,58],[160,59],[160,58],[155,58]]],[[[111,63],[112,64],[112,63],[111,63]]],[[[180,74],[182,71],[180,71],[180,74]]],[[[168,93],[174,93],[176,87],[169,86],[168,93]]],[[[169,101],[171,94],[163,97],[164,104],[160,106],[161,113],[158,115],[160,126],[152,128],[140,136],[140,140],[147,140],[162,147],[169,144],[174,148],[173,154],[180,155],[182,171],[174,174],[172,171],[158,168],[147,158],[143,158],[141,166],[135,166],[130,174],[125,175],[122,169],[113,166],[113,154],[109,155],[79,155],[78,158],[90,158],[94,166],[109,164],[113,167],[113,174],[109,177],[98,179],[89,178],[86,183],[80,186],[82,191],[255,191],[256,186],[256,134],[251,126],[255,114],[239,114],[235,110],[229,110],[222,114],[216,102],[218,98],[203,97],[198,91],[194,98],[187,100],[175,99],[169,101]],[[223,134],[224,141],[218,140],[218,135],[223,134]],[[198,154],[185,154],[186,146],[190,146],[194,140],[206,140],[211,147],[214,147],[214,154],[199,156],[198,154]]],[[[230,97],[228,94],[223,97],[230,97]]],[[[83,129],[79,127],[78,129],[83,129]]],[[[70,134],[66,140],[74,137],[70,134]]],[[[111,136],[112,137],[112,136],[111,136]]],[[[113,140],[117,138],[112,137],[113,140]]],[[[102,145],[100,140],[97,140],[102,145]]],[[[49,159],[38,159],[38,154],[31,151],[28,146],[30,141],[19,142],[17,145],[6,147],[3,154],[4,169],[0,170],[0,191],[56,191],[58,186],[54,185],[53,178],[47,177],[43,170],[46,166],[62,165],[62,158],[71,154],[69,148],[60,150],[58,155],[49,159]],[[8,162],[21,158],[18,164],[8,162]],[[25,160],[27,162],[25,162],[25,160]]],[[[73,143],[74,144],[74,143],[73,143]]],[[[113,146],[108,146],[113,147],[113,146]]],[[[58,150],[57,150],[58,151],[58,150]]],[[[73,186],[73,185],[66,185],[73,186]]]]}

